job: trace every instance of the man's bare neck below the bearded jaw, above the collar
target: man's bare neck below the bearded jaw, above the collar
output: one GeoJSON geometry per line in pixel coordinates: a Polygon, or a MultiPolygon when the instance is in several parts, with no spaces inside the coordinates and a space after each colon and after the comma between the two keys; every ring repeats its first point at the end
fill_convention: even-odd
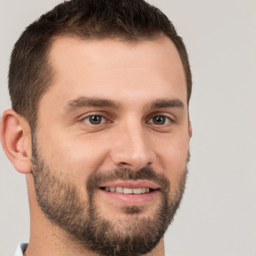
{"type": "MultiPolygon", "coordinates": [[[[28,200],[30,209],[30,239],[24,256],[100,256],[70,238],[61,227],[51,223],[37,204],[33,190],[33,179],[27,174],[28,200]]],[[[144,256],[164,256],[163,238],[144,256]]]]}

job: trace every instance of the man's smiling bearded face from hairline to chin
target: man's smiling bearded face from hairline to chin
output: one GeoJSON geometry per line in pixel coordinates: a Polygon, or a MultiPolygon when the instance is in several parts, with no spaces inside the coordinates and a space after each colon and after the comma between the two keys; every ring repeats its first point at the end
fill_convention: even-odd
{"type": "Polygon", "coordinates": [[[90,250],[150,251],[178,207],[187,172],[186,83],[175,46],[166,37],[58,37],[50,62],[54,84],[40,100],[32,139],[38,204],[90,250]]]}

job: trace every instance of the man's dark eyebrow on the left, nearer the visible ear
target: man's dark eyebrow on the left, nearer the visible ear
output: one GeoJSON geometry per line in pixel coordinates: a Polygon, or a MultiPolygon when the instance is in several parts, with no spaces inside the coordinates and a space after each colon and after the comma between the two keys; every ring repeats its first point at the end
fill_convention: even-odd
{"type": "Polygon", "coordinates": [[[67,104],[64,106],[64,109],[67,112],[75,111],[78,108],[81,107],[111,107],[114,109],[120,108],[120,104],[118,102],[115,102],[111,99],[102,99],[102,98],[96,98],[96,97],[78,97],[73,100],[69,100],[67,104]]]}

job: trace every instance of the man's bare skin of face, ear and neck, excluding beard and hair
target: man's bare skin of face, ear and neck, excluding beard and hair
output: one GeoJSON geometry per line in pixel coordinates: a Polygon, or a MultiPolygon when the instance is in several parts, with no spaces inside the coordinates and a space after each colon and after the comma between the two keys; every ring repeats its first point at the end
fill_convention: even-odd
{"type": "MultiPolygon", "coordinates": [[[[178,187],[186,166],[191,126],[186,103],[186,82],[178,52],[165,36],[127,43],[113,39],[81,40],[56,37],[50,49],[54,84],[39,101],[36,129],[40,154],[62,178],[76,185],[87,199],[86,180],[97,170],[150,166],[178,187]],[[119,107],[82,106],[81,97],[112,100],[119,107]],[[155,100],[178,100],[181,106],[152,107],[155,100]],[[102,123],[89,123],[89,115],[102,123]],[[154,124],[153,116],[166,116],[154,124]],[[57,166],[57,167],[56,167],[57,166]]],[[[14,167],[26,174],[30,208],[30,240],[25,255],[97,255],[66,242],[65,231],[52,224],[37,204],[31,174],[31,133],[23,117],[12,109],[1,123],[3,148],[14,167]],[[38,231],[39,230],[39,231],[38,231]]],[[[137,220],[155,211],[160,192],[142,205],[137,220]]],[[[111,221],[124,220],[127,204],[95,191],[98,211],[111,221]]],[[[164,255],[163,239],[148,255],[164,255]]]]}

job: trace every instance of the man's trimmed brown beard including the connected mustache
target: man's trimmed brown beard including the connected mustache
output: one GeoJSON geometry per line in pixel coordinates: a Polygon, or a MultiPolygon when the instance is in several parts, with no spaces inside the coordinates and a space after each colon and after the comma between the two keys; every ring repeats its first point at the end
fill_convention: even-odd
{"type": "Polygon", "coordinates": [[[187,167],[181,170],[176,186],[150,167],[138,171],[127,168],[95,170],[85,184],[87,197],[81,199],[72,179],[56,171],[57,164],[47,165],[36,148],[35,139],[32,141],[32,175],[38,205],[51,223],[65,230],[69,241],[106,256],[143,255],[158,244],[180,204],[187,167]],[[160,186],[161,200],[148,210],[149,216],[141,216],[145,210],[143,205],[123,206],[124,220],[109,220],[97,209],[95,190],[103,182],[118,179],[143,179],[160,186]]]}

